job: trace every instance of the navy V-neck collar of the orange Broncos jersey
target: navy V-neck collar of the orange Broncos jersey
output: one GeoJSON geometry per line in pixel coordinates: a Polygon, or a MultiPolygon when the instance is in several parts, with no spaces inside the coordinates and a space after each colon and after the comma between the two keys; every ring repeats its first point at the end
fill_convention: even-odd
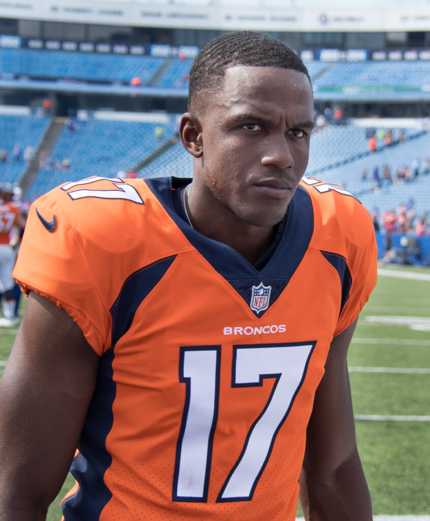
{"type": "MultiPolygon", "coordinates": [[[[300,186],[297,188],[288,206],[280,243],[267,264],[257,270],[230,246],[205,237],[186,222],[183,210],[174,202],[173,194],[175,190],[190,183],[191,179],[154,178],[146,179],[145,182],[188,241],[231,284],[248,306],[252,286],[257,287],[262,282],[264,286],[272,288],[268,306],[270,308],[298,268],[312,237],[313,207],[308,192],[300,186]]],[[[261,318],[265,311],[253,313],[261,318]]]]}

